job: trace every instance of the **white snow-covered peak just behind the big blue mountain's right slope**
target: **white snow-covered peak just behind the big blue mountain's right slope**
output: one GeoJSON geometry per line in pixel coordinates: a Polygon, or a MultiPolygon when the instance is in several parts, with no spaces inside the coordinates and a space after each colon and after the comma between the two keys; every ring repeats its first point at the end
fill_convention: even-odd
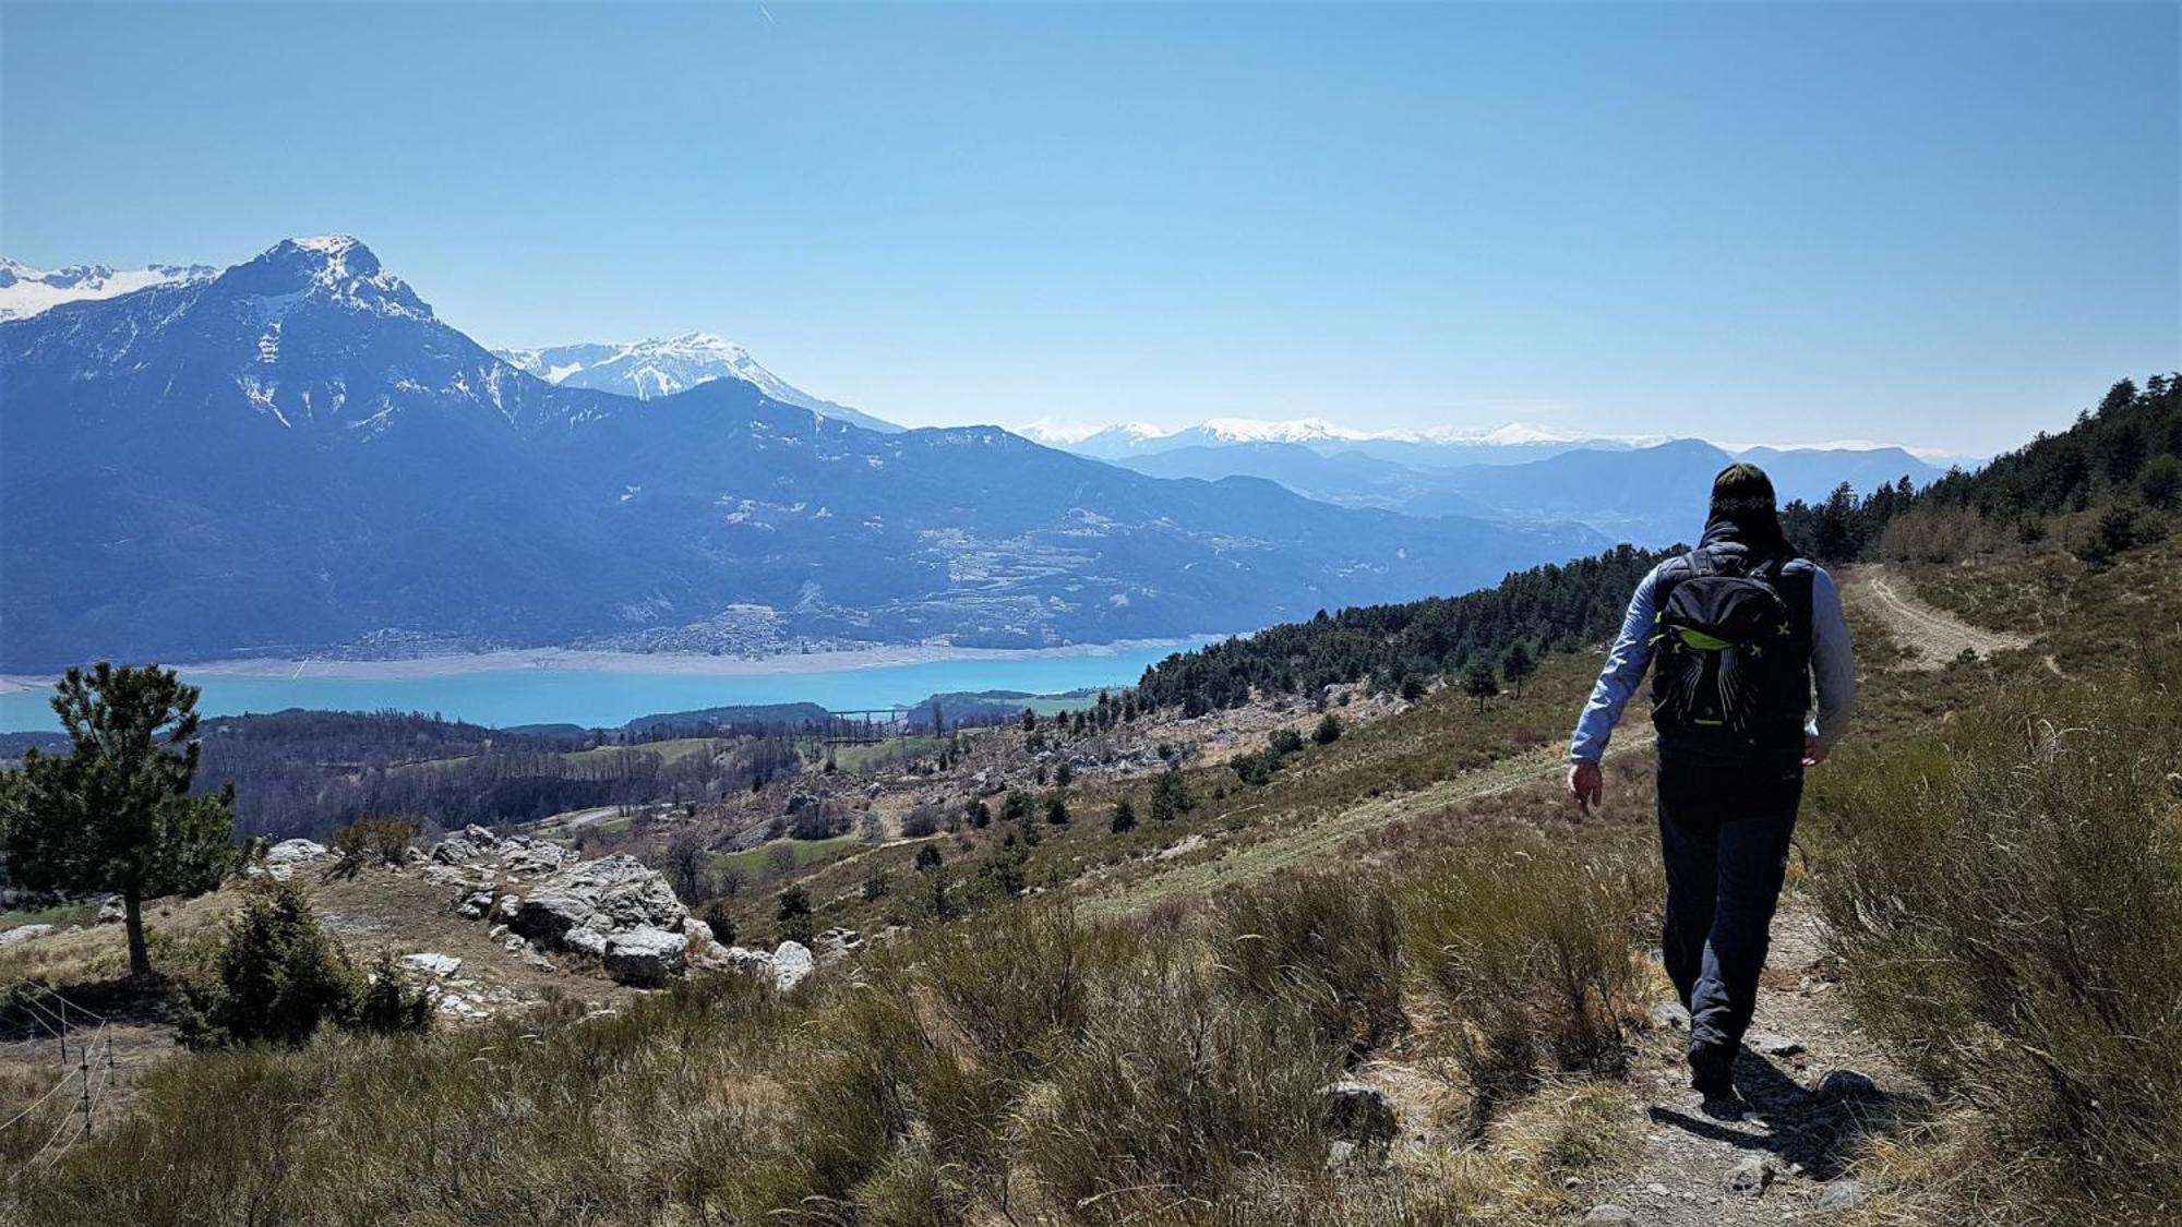
{"type": "Polygon", "coordinates": [[[511,367],[548,384],[652,400],[690,391],[711,380],[742,380],[781,404],[794,404],[853,421],[866,430],[901,430],[844,404],[818,400],[757,365],[751,352],[724,336],[685,332],[666,341],[624,345],[580,343],[546,349],[493,349],[511,367]]]}

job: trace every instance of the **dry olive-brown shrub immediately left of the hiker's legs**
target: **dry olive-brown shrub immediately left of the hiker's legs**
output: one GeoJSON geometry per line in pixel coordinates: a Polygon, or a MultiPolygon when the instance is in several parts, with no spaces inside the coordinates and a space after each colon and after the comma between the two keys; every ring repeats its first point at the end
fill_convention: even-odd
{"type": "Polygon", "coordinates": [[[1604,856],[1462,854],[1405,900],[1405,948],[1449,1020],[1473,1120],[1540,1070],[1619,1074],[1632,937],[1654,891],[1604,856]]]}

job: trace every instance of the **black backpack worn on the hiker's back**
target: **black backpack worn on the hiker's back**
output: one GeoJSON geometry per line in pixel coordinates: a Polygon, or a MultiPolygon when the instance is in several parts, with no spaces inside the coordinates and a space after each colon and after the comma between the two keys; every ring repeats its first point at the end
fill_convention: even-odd
{"type": "Polygon", "coordinates": [[[1719,749],[1798,747],[1811,701],[1811,572],[1698,548],[1663,576],[1652,723],[1719,749]]]}

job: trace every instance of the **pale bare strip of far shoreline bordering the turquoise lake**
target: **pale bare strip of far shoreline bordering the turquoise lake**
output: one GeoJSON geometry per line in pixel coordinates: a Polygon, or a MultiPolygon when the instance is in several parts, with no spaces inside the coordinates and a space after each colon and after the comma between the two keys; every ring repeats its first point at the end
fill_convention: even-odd
{"type": "MultiPolygon", "coordinates": [[[[489,653],[447,653],[401,659],[338,657],[242,657],[203,664],[177,664],[192,677],[233,679],[319,679],[319,681],[417,681],[460,677],[471,672],[644,672],[661,677],[783,677],[807,672],[844,672],[860,668],[895,668],[951,662],[1034,662],[1113,657],[1150,648],[1191,651],[1228,635],[1187,635],[1174,640],[1115,640],[1108,644],[1063,644],[1052,648],[960,648],[951,644],[882,644],[871,648],[834,648],[816,653],[775,653],[764,657],[716,657],[698,653],[626,653],[589,648],[506,648],[489,653]]],[[[48,690],[59,675],[0,675],[0,694],[48,690]]]]}

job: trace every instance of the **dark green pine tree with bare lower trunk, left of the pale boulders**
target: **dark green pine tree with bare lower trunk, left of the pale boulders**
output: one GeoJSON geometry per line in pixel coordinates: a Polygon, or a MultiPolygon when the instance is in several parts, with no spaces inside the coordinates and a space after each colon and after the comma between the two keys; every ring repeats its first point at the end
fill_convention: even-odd
{"type": "Polygon", "coordinates": [[[196,694],[157,666],[68,670],[52,710],[70,753],[24,751],[22,779],[0,808],[0,851],[15,882],[122,897],[133,976],[151,974],[144,900],[201,895],[242,860],[233,786],[190,795],[196,694]]]}

